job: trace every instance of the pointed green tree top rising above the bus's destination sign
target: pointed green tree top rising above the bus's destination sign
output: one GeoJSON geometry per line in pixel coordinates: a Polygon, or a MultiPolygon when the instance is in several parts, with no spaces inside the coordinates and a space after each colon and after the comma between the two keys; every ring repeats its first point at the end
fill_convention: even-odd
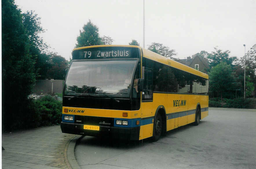
{"type": "Polygon", "coordinates": [[[80,35],[76,38],[76,48],[83,46],[102,45],[103,42],[99,36],[99,28],[89,20],[80,30],[80,35]]]}

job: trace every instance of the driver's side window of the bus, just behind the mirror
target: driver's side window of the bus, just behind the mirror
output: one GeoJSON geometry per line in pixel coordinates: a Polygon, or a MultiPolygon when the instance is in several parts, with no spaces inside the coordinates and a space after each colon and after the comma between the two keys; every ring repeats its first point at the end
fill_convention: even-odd
{"type": "Polygon", "coordinates": [[[153,70],[144,67],[144,94],[142,100],[153,100],[153,70]]]}

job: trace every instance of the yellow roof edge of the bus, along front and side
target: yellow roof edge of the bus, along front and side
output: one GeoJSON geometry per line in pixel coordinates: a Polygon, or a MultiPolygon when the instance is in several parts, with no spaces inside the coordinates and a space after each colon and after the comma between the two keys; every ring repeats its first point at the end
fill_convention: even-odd
{"type": "Polygon", "coordinates": [[[95,45],[95,46],[85,46],[85,47],[80,47],[80,48],[74,48],[74,50],[80,50],[80,49],[85,49],[85,48],[96,48],[96,47],[133,47],[133,48],[139,48],[143,52],[143,57],[151,59],[153,61],[157,61],[159,63],[163,63],[165,65],[169,65],[172,67],[175,67],[179,70],[183,70],[185,72],[189,72],[191,74],[195,74],[197,76],[200,76],[202,78],[209,79],[208,74],[205,74],[203,72],[200,72],[198,70],[193,69],[192,67],[183,65],[182,63],[179,63],[177,61],[171,60],[167,57],[161,56],[155,52],[152,52],[150,50],[144,49],[140,46],[135,46],[135,45],[95,45]]]}

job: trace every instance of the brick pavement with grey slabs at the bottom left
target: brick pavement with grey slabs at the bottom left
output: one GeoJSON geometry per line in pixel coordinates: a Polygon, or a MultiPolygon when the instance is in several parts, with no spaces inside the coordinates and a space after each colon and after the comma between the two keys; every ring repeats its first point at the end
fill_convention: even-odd
{"type": "Polygon", "coordinates": [[[3,133],[2,168],[71,168],[65,151],[74,136],[59,125],[3,133]]]}

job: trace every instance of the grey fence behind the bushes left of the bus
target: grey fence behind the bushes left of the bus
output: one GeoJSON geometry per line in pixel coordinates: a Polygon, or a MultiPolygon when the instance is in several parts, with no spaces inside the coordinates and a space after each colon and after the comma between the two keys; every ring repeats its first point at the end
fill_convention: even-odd
{"type": "Polygon", "coordinates": [[[33,93],[62,93],[64,80],[36,80],[36,85],[33,88],[33,93]]]}

